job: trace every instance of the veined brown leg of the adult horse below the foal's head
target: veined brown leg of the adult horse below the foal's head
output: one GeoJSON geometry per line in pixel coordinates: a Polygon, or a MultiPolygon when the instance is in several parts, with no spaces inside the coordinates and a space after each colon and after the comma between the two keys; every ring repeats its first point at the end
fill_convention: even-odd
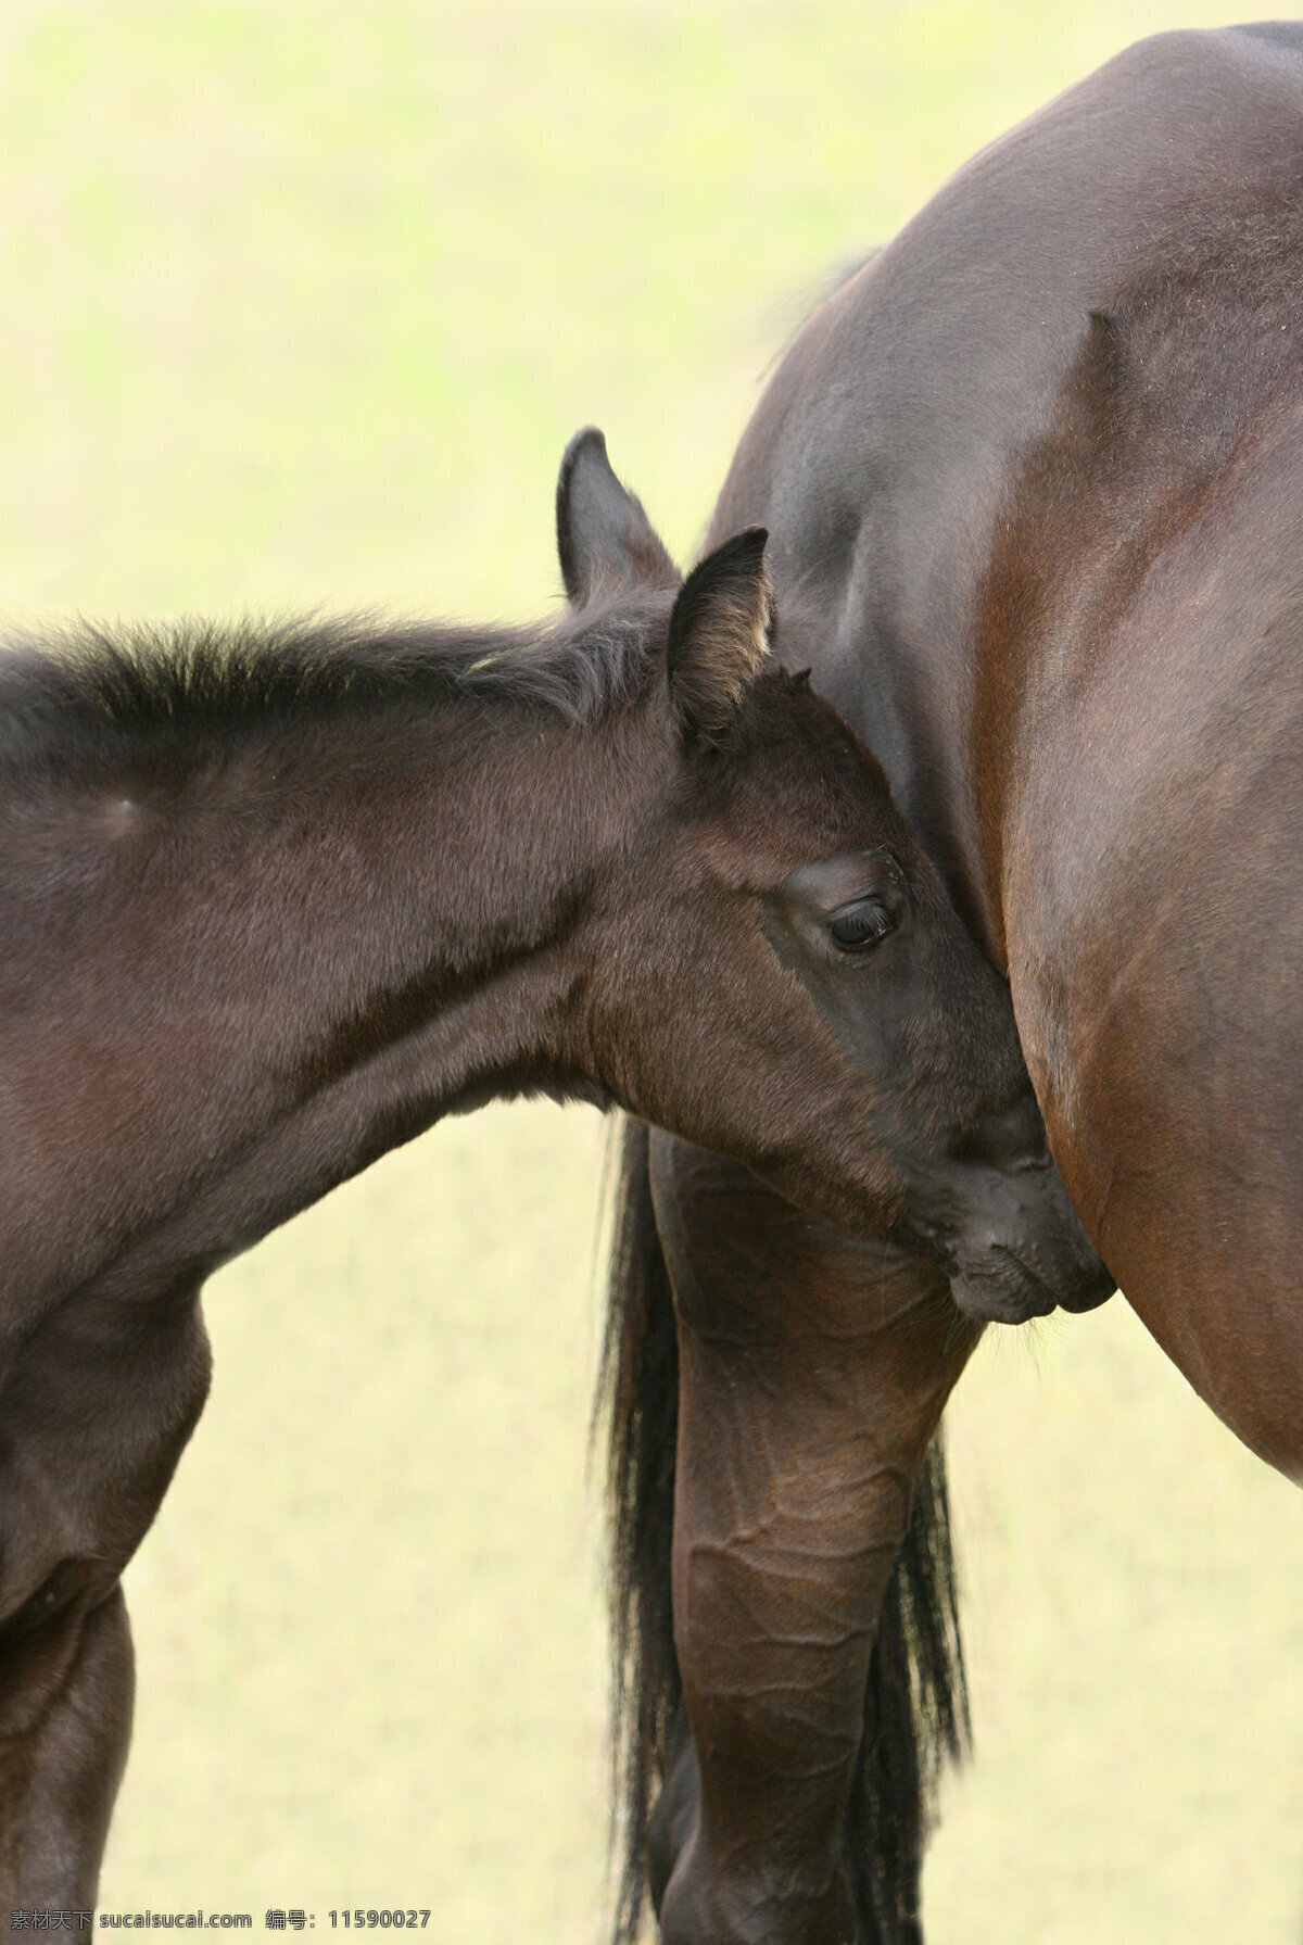
{"type": "Polygon", "coordinates": [[[681,1739],[652,1832],[673,1945],[856,1937],[844,1824],[877,1612],[976,1342],[945,1280],[669,1138],[681,1739]],[[659,1854],[659,1856],[657,1856],[659,1854]]]}

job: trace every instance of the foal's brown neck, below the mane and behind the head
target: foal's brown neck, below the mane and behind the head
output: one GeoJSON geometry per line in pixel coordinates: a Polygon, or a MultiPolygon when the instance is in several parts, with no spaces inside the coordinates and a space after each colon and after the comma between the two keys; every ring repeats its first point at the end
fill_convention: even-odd
{"type": "Polygon", "coordinates": [[[119,716],[27,685],[0,1076],[10,1155],[49,1169],[0,1165],[16,1288],[171,1288],[447,1111],[601,1097],[593,914],[667,757],[630,690],[469,675],[119,716]]]}

